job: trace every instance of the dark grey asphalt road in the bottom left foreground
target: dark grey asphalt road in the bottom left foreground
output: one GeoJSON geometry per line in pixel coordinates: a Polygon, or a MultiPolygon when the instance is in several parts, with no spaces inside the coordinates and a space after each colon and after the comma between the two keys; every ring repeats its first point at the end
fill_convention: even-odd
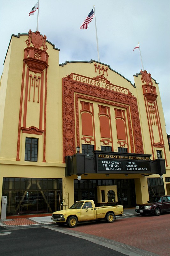
{"type": "Polygon", "coordinates": [[[0,231],[3,256],[123,256],[121,252],[48,228],[0,231]],[[6,235],[5,235],[6,233],[6,235]]]}

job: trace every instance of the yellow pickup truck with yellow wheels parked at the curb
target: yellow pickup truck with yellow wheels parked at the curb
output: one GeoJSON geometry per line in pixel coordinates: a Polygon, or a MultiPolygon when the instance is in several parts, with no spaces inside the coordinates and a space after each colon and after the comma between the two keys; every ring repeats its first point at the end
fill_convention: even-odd
{"type": "Polygon", "coordinates": [[[67,224],[70,228],[75,228],[78,222],[105,219],[111,223],[116,218],[122,216],[123,206],[100,206],[96,207],[93,200],[76,201],[69,209],[52,213],[52,220],[56,221],[58,226],[67,224]]]}

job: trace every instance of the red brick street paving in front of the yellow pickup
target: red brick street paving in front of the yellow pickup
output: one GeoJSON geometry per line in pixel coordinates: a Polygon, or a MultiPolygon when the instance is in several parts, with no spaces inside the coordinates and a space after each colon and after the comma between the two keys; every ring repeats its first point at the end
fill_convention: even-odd
{"type": "Polygon", "coordinates": [[[82,224],[74,231],[114,240],[160,256],[170,256],[170,213],[122,218],[114,223],[82,224]]]}

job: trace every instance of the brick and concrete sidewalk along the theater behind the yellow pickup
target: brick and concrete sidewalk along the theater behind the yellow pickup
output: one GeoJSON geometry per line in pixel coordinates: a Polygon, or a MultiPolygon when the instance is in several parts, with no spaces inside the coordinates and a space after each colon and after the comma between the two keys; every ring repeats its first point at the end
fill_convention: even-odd
{"type": "MultiPolygon", "coordinates": [[[[138,216],[139,213],[135,212],[135,208],[130,209],[124,209],[124,215],[123,217],[116,217],[118,218],[126,218],[126,217],[133,217],[138,216]]],[[[36,227],[38,226],[46,226],[46,225],[52,225],[55,223],[53,220],[51,220],[51,216],[45,216],[45,217],[33,217],[33,218],[16,218],[16,219],[7,219],[7,220],[0,220],[0,229],[1,227],[4,229],[14,229],[14,228],[30,228],[30,227],[36,227]]]]}

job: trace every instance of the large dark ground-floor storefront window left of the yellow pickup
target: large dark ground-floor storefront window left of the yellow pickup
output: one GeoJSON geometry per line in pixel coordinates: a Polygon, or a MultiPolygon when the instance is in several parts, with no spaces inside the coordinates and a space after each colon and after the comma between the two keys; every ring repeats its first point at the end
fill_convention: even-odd
{"type": "Polygon", "coordinates": [[[3,178],[6,216],[62,210],[62,179],[3,178]]]}

